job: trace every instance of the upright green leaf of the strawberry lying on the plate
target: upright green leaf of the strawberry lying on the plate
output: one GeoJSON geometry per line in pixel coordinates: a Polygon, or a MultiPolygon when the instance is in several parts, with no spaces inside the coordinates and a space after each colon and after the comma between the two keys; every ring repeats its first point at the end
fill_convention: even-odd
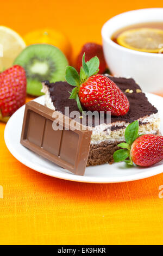
{"type": "Polygon", "coordinates": [[[132,144],[138,136],[139,122],[134,121],[129,124],[125,130],[125,139],[128,144],[132,144]]]}

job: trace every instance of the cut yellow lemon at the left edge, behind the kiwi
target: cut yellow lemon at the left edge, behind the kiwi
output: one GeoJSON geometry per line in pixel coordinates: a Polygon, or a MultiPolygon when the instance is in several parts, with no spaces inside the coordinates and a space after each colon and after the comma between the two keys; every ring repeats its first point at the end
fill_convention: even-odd
{"type": "Polygon", "coordinates": [[[25,47],[26,43],[19,34],[10,28],[0,26],[0,72],[12,66],[15,58],[25,47]]]}

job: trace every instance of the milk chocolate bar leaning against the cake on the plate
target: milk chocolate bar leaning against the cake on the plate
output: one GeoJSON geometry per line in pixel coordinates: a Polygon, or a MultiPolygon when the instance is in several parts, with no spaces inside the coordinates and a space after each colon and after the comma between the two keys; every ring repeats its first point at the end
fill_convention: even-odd
{"type": "Polygon", "coordinates": [[[62,168],[84,175],[92,131],[35,101],[26,103],[21,144],[62,168]],[[62,124],[62,125],[61,125],[62,124]],[[54,126],[60,126],[54,130],[54,126]],[[62,126],[62,127],[61,127],[62,126]]]}

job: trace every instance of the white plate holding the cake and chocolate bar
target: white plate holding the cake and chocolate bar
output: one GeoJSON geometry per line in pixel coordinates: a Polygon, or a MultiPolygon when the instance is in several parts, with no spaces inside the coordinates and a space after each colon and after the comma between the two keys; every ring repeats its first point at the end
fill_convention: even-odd
{"type": "MultiPolygon", "coordinates": [[[[163,100],[162,97],[146,94],[149,101],[158,108],[161,117],[161,131],[163,131],[163,100]]],[[[35,101],[44,104],[44,96],[35,101]]],[[[163,171],[163,163],[155,164],[153,167],[139,168],[127,167],[126,163],[103,164],[101,166],[90,166],[86,168],[85,175],[79,176],[70,173],[57,164],[54,164],[20,144],[24,106],[19,108],[9,119],[4,132],[5,143],[11,154],[26,166],[56,178],[80,182],[112,183],[139,180],[159,174],[163,171]]],[[[163,132],[162,132],[163,133],[163,132]]]]}

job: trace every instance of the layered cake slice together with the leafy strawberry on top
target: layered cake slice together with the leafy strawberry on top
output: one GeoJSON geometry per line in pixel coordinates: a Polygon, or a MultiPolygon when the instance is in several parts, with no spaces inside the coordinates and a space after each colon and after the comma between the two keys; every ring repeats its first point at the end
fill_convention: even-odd
{"type": "MultiPolygon", "coordinates": [[[[78,72],[68,66],[67,82],[42,83],[45,105],[55,111],[65,113],[80,111],[111,112],[111,123],[96,125],[92,121],[92,136],[87,166],[114,162],[113,154],[118,144],[125,141],[126,127],[135,120],[139,121],[139,133],[159,135],[160,119],[158,110],[148,101],[146,95],[132,78],[117,78],[99,75],[99,60],[92,58],[78,72]],[[70,95],[71,92],[71,95],[70,95]]],[[[89,126],[89,123],[86,124],[89,126]]]]}

